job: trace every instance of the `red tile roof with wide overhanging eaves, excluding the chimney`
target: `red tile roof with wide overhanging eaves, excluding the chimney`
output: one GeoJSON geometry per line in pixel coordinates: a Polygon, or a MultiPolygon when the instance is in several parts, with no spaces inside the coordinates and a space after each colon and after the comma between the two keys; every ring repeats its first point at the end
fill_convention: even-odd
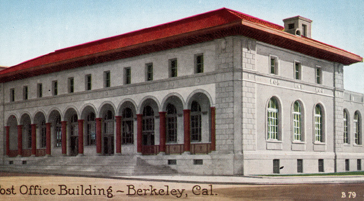
{"type": "Polygon", "coordinates": [[[56,50],[0,71],[0,82],[134,57],[237,34],[345,65],[363,60],[362,57],[339,48],[285,33],[283,29],[282,26],[265,20],[221,8],[162,25],[56,50]]]}

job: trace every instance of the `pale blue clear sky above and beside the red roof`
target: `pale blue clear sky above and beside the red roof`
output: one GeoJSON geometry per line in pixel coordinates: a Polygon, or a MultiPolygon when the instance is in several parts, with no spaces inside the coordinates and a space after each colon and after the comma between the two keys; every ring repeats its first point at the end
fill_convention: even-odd
{"type": "MultiPolygon", "coordinates": [[[[313,39],[364,56],[364,0],[0,0],[0,65],[222,7],[309,18],[313,39]]],[[[364,63],[344,67],[344,88],[364,93],[364,63]]]]}

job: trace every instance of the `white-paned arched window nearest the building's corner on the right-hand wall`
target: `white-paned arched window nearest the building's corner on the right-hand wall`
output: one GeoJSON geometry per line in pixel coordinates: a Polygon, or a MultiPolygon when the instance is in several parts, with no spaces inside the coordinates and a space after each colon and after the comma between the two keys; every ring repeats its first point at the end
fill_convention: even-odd
{"type": "Polygon", "coordinates": [[[267,130],[268,140],[278,140],[278,103],[277,100],[271,98],[267,108],[267,130]]]}

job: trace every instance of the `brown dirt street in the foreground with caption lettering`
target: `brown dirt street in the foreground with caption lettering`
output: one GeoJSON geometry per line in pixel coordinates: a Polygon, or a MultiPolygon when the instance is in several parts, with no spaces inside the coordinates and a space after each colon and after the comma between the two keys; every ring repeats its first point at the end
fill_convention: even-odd
{"type": "Polygon", "coordinates": [[[219,185],[6,172],[0,176],[0,201],[364,200],[364,184],[219,185]]]}

